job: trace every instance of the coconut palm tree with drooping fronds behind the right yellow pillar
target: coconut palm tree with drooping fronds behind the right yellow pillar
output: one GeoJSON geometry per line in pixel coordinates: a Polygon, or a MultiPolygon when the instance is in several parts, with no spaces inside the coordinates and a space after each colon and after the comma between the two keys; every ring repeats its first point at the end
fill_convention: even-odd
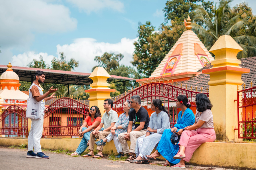
{"type": "Polygon", "coordinates": [[[231,0],[220,0],[218,7],[213,7],[212,15],[208,14],[203,7],[199,7],[191,24],[194,32],[202,39],[209,50],[222,35],[230,35],[242,48],[237,58],[256,56],[256,37],[239,35],[246,19],[240,19],[240,15],[232,15],[230,8],[231,0]]]}

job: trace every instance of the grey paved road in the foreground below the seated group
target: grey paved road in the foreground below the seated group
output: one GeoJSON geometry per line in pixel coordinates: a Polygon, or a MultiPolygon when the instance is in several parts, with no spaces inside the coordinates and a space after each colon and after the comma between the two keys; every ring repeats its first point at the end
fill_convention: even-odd
{"type": "MultiPolygon", "coordinates": [[[[61,153],[44,153],[50,156],[50,159],[26,158],[27,150],[0,147],[0,170],[167,170],[177,169],[158,165],[131,164],[127,161],[112,161],[105,158],[83,158],[68,156],[61,153]]],[[[158,161],[155,163],[164,163],[158,161]]],[[[187,165],[186,170],[224,170],[222,168],[196,167],[187,165]]],[[[180,169],[180,168],[179,168],[180,169]]]]}

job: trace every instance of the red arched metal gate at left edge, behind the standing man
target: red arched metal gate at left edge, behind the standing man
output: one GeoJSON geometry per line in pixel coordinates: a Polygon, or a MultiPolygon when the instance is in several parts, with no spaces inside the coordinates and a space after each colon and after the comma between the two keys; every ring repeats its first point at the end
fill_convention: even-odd
{"type": "Polygon", "coordinates": [[[0,134],[6,137],[28,137],[26,111],[16,105],[9,106],[0,115],[0,134]]]}

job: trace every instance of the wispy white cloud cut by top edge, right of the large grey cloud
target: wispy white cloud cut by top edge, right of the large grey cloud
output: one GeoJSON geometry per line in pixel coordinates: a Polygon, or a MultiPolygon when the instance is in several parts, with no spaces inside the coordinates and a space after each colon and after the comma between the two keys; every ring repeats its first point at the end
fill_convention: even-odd
{"type": "Polygon", "coordinates": [[[104,8],[123,12],[124,4],[119,0],[67,0],[75,5],[80,11],[87,14],[91,12],[99,12],[104,8]]]}

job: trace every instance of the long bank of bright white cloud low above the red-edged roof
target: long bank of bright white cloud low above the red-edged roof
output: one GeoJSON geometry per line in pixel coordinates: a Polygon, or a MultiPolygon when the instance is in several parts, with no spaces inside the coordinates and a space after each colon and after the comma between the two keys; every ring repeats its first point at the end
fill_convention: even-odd
{"type": "MultiPolygon", "coordinates": [[[[122,53],[124,58],[121,60],[120,64],[131,65],[132,53],[134,52],[133,42],[137,39],[127,39],[122,38],[118,43],[107,43],[107,42],[97,42],[92,38],[80,38],[75,39],[71,44],[57,45],[57,54],[59,52],[64,52],[67,60],[70,58],[75,58],[79,61],[79,67],[75,68],[76,72],[91,73],[92,67],[97,65],[94,61],[95,56],[101,56],[104,52],[114,52],[116,54],[122,53]]],[[[33,58],[39,60],[39,56],[42,55],[44,61],[47,64],[51,64],[53,55],[48,55],[47,53],[35,54],[34,51],[25,52],[23,54],[14,55],[12,57],[12,65],[14,66],[26,66],[24,61],[27,63],[31,62],[33,58]],[[23,65],[22,65],[23,63],[23,65]]]]}

